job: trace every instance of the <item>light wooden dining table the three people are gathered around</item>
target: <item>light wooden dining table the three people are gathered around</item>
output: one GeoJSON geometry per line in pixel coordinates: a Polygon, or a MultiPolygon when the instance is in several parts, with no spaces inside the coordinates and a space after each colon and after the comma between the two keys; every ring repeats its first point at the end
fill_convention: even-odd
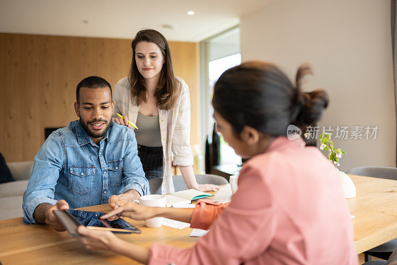
{"type": "MultiPolygon", "coordinates": [[[[397,238],[397,181],[350,175],[357,195],[347,199],[354,226],[357,254],[397,238]]],[[[227,202],[231,198],[230,184],[222,185],[207,199],[227,202]]],[[[79,208],[108,212],[108,204],[79,208]]],[[[168,226],[147,228],[143,221],[126,218],[142,231],[141,234],[119,235],[120,238],[149,248],[163,243],[189,248],[198,237],[190,237],[192,228],[168,226]]],[[[337,254],[335,254],[337,255],[337,254]]],[[[26,225],[22,218],[0,221],[0,263],[18,264],[138,264],[124,256],[107,251],[87,250],[67,232],[56,232],[47,225],[26,225]]]]}

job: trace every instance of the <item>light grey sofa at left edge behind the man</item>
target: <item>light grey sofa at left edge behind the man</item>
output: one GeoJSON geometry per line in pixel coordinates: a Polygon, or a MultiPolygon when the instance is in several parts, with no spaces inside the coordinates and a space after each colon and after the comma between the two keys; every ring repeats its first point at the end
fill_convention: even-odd
{"type": "Polygon", "coordinates": [[[23,216],[22,196],[29,182],[33,161],[10,162],[7,166],[15,181],[0,184],[0,220],[23,216]]]}

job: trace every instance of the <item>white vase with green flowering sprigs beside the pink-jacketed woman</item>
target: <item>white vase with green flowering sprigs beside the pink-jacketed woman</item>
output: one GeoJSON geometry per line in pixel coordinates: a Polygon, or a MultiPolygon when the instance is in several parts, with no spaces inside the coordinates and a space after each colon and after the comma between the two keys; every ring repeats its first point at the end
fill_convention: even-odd
{"type": "Polygon", "coordinates": [[[331,140],[331,133],[320,134],[320,150],[328,150],[328,159],[335,166],[339,173],[339,177],[342,183],[343,194],[346,199],[354,198],[356,196],[356,186],[347,174],[338,170],[339,159],[345,154],[345,151],[341,151],[340,148],[335,149],[331,140]]]}

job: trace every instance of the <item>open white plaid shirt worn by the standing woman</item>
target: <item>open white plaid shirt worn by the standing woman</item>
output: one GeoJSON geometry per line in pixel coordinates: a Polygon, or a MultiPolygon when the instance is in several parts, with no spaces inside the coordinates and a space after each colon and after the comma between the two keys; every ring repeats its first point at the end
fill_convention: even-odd
{"type": "MultiPolygon", "coordinates": [[[[158,109],[160,122],[161,145],[163,147],[163,183],[161,193],[174,192],[172,181],[171,156],[174,155],[174,165],[193,166],[193,155],[190,146],[190,93],[186,82],[178,78],[182,84],[177,102],[169,110],[158,109]]],[[[113,99],[115,101],[116,113],[128,116],[132,123],[136,123],[139,106],[135,98],[131,98],[131,87],[128,78],[117,82],[113,99]]],[[[133,129],[133,128],[132,128],[133,129]]]]}

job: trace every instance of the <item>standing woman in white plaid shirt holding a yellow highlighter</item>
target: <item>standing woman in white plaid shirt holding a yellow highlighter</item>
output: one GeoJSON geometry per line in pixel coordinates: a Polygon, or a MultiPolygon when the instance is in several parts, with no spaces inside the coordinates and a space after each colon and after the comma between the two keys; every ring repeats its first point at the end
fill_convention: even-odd
{"type": "Polygon", "coordinates": [[[167,40],[156,30],[144,29],[136,33],[131,46],[130,76],[115,86],[113,117],[120,125],[132,128],[130,120],[139,128],[134,132],[146,178],[162,177],[161,193],[174,192],[173,154],[173,163],[179,166],[188,188],[215,191],[218,186],[196,181],[190,146],[189,88],[174,76],[167,40]]]}

